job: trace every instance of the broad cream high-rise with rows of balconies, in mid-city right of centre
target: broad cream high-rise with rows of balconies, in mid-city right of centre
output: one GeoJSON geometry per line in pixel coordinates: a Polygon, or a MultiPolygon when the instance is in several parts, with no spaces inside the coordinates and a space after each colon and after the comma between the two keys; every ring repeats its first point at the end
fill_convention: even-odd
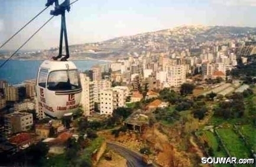
{"type": "Polygon", "coordinates": [[[172,65],[168,69],[168,84],[179,87],[186,82],[186,66],[172,65]]]}

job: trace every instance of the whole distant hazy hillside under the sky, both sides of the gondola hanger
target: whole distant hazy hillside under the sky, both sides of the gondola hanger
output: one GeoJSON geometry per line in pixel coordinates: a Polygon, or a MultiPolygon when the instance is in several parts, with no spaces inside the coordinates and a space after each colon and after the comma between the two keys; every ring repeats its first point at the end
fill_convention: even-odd
{"type": "MultiPolygon", "coordinates": [[[[128,55],[141,55],[184,51],[190,49],[193,55],[200,52],[199,48],[227,41],[255,41],[256,28],[235,26],[178,26],[155,32],[146,32],[132,36],[121,36],[107,41],[70,45],[72,59],[116,59],[128,55]]],[[[64,48],[63,48],[64,49],[64,48]]],[[[17,58],[47,59],[57,55],[59,49],[53,48],[43,52],[22,54],[17,58]]],[[[64,50],[63,50],[64,52],[64,50]]],[[[8,57],[8,56],[6,56],[8,57]]]]}

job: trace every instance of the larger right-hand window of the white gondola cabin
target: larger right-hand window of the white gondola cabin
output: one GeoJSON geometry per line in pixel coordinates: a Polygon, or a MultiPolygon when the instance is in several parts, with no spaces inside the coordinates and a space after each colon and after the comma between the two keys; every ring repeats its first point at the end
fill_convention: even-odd
{"type": "Polygon", "coordinates": [[[50,72],[47,88],[51,91],[67,91],[81,88],[77,70],[63,70],[50,72]]]}

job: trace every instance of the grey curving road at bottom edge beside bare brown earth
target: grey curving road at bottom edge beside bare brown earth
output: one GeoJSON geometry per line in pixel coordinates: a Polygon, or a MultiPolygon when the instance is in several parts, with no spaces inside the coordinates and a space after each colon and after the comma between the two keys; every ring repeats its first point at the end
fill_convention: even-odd
{"type": "MultiPolygon", "coordinates": [[[[121,156],[124,156],[127,159],[127,166],[128,167],[140,167],[140,166],[147,166],[144,162],[142,162],[142,156],[135,152],[131,151],[124,146],[118,145],[116,143],[107,142],[109,148],[113,149],[114,151],[118,152],[121,156]]],[[[148,166],[155,166],[155,165],[148,165],[148,166]]]]}

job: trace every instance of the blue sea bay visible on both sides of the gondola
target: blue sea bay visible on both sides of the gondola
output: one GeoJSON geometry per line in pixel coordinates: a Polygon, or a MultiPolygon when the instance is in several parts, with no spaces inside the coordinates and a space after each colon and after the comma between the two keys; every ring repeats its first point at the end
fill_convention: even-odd
{"type": "MultiPolygon", "coordinates": [[[[0,60],[2,64],[5,60],[0,60]]],[[[9,85],[21,84],[25,80],[35,79],[37,71],[43,61],[33,60],[9,60],[2,68],[0,68],[0,80],[5,80],[9,85]]],[[[84,72],[93,65],[106,65],[106,61],[73,61],[77,69],[84,72]]]]}

